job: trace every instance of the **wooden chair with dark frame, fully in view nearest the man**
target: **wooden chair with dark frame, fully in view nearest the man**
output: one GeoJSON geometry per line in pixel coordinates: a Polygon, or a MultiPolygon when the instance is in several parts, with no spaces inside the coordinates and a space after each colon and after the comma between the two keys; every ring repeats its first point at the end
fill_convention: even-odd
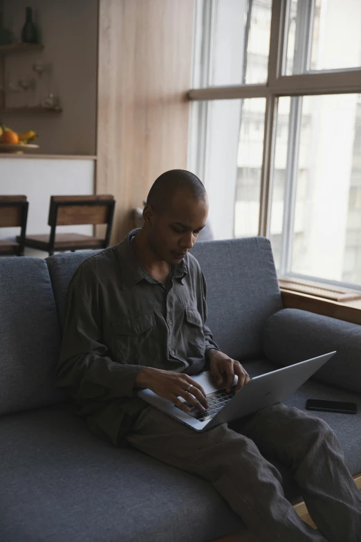
{"type": "Polygon", "coordinates": [[[28,235],[25,246],[46,251],[52,256],[55,251],[79,251],[84,249],[106,249],[109,246],[113,224],[115,201],[111,195],[98,196],[51,196],[48,225],[50,235],[28,235]],[[104,239],[80,233],[57,233],[57,226],[75,224],[107,224],[104,239]]]}

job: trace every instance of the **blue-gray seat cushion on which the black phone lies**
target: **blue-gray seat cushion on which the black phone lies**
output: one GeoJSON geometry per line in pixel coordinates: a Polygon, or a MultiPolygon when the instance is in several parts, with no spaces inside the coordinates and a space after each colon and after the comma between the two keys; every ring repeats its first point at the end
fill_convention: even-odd
{"type": "MultiPolygon", "coordinates": [[[[264,374],[275,369],[275,365],[265,359],[242,362],[250,377],[264,374]]],[[[344,459],[352,474],[361,472],[361,394],[335,388],[330,384],[309,379],[290,399],[284,401],[285,405],[295,406],[306,413],[320,417],[333,429],[344,450],[344,459]],[[342,414],[336,412],[319,412],[306,410],[307,399],[331,399],[333,401],[352,401],[358,405],[357,414],[342,414]]]]}

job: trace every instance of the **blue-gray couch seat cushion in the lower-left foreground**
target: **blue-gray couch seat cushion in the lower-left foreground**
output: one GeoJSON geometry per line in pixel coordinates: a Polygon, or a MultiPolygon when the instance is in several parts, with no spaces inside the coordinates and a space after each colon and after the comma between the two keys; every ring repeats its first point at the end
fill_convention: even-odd
{"type": "Polygon", "coordinates": [[[0,419],[3,542],[207,542],[245,528],[209,482],[92,435],[65,408],[0,419]]]}

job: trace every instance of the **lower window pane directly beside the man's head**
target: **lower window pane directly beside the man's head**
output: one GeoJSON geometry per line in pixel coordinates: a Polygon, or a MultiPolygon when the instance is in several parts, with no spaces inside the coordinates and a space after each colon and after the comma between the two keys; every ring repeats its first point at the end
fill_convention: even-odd
{"type": "Polygon", "coordinates": [[[265,98],[192,104],[189,168],[210,200],[216,239],[258,234],[265,98]]]}

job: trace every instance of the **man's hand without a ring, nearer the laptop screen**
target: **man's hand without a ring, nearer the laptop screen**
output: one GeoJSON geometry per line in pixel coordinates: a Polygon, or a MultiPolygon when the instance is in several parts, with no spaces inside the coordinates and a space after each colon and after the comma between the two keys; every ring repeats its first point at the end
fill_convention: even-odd
{"type": "Polygon", "coordinates": [[[212,377],[218,385],[223,382],[223,372],[227,376],[226,392],[230,392],[230,388],[234,381],[234,374],[237,374],[238,381],[235,392],[237,393],[244,384],[250,381],[250,376],[246,369],[244,369],[235,359],[230,358],[227,354],[219,352],[215,348],[208,350],[208,356],[210,358],[210,372],[212,377]]]}

